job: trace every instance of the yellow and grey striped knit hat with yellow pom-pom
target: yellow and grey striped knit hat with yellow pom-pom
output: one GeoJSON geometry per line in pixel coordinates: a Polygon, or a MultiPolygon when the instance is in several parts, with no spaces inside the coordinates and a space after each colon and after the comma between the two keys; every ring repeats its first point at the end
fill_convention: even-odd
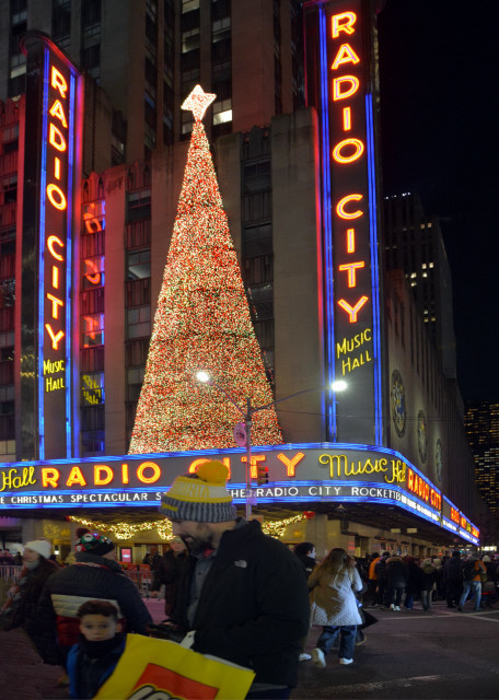
{"type": "Polygon", "coordinates": [[[195,474],[177,477],[161,498],[160,511],[173,521],[225,523],[235,520],[235,505],[227,490],[229,470],[221,462],[201,464],[195,474]]]}

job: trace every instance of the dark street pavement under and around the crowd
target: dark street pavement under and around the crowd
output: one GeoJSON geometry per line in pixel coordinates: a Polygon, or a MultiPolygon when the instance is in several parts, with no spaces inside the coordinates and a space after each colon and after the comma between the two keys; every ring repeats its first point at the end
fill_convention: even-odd
{"type": "MultiPolygon", "coordinates": [[[[164,603],[144,602],[161,621],[164,603]]],[[[326,668],[302,662],[292,700],[497,700],[499,609],[473,612],[468,603],[459,612],[439,602],[425,612],[415,605],[411,612],[371,610],[379,621],[350,666],[339,665],[337,650],[326,668]]],[[[320,631],[312,628],[309,652],[320,631]]],[[[61,670],[44,665],[20,630],[0,632],[0,700],[68,698],[67,687],[56,685],[61,670]]]]}

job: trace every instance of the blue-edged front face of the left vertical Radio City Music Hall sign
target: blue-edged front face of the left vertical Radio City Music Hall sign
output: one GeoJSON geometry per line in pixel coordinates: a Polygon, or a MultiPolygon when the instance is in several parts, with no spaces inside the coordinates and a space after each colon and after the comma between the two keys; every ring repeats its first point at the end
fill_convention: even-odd
{"type": "Polygon", "coordinates": [[[81,75],[43,40],[38,243],[38,454],[73,456],[72,279],[81,75]]]}

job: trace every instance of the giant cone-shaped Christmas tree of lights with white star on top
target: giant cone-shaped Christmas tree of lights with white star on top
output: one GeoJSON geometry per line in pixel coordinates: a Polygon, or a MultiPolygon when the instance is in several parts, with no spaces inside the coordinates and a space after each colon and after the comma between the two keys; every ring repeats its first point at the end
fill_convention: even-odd
{"type": "MultiPolygon", "coordinates": [[[[227,214],[201,124],[216,95],[197,85],[182,105],[195,117],[130,454],[233,447],[243,409],[272,401],[227,214]]],[[[281,443],[274,407],[253,416],[252,444],[281,443]]]]}

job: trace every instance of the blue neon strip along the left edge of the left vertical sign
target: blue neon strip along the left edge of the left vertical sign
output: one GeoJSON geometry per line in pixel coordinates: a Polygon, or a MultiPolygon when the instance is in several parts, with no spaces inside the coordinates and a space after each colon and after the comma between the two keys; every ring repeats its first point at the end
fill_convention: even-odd
{"type": "Polygon", "coordinates": [[[45,458],[44,419],[44,336],[45,336],[45,191],[47,186],[48,73],[49,51],[44,51],[44,93],[42,107],[42,171],[39,185],[38,242],[38,456],[45,458]]]}

